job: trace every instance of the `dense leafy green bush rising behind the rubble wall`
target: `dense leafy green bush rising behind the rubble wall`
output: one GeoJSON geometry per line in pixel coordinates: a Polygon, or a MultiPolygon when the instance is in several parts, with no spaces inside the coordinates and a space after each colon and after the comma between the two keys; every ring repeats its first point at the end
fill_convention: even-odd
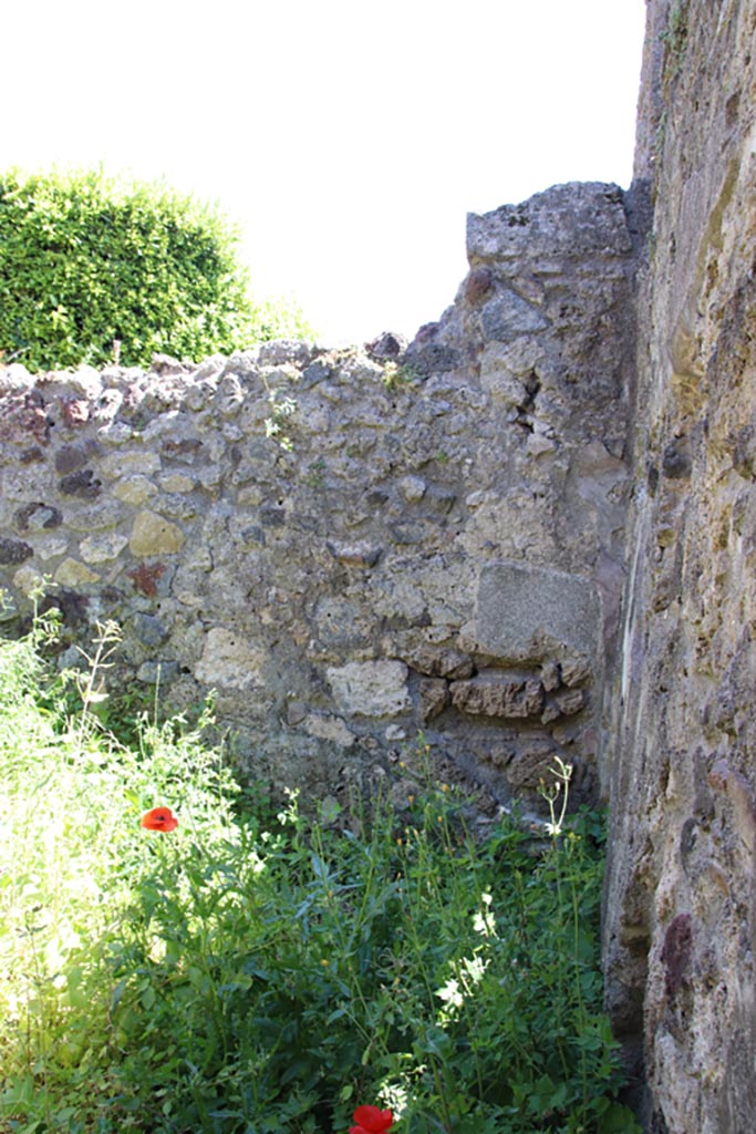
{"type": "Polygon", "coordinates": [[[0,352],[31,371],[198,359],[311,333],[250,297],[214,208],[100,172],[0,176],[0,352]],[[114,346],[120,344],[120,346],[114,346]]]}

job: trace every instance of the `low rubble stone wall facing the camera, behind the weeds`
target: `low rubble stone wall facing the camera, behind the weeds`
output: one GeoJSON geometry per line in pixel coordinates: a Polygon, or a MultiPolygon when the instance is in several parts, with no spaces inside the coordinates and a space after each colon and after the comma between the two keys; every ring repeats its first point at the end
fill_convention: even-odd
{"type": "Polygon", "coordinates": [[[111,686],[159,679],[178,708],[214,688],[253,775],[307,794],[383,775],[423,729],[444,778],[493,802],[537,802],[554,754],[595,797],[628,484],[623,195],[559,186],[472,217],[468,245],[456,303],[407,349],[0,372],[9,629],[50,577],[71,633],[121,625],[111,686]]]}

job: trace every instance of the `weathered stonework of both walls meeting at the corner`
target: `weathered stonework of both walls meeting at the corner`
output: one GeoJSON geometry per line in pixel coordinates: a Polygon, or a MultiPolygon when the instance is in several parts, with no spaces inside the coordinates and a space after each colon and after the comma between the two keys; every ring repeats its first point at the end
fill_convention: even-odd
{"type": "Polygon", "coordinates": [[[83,634],[118,609],[119,680],[218,686],[239,751],[315,797],[421,723],[504,804],[558,755],[576,796],[597,771],[606,1005],[646,1126],[746,1134],[756,0],[646,7],[631,189],[470,215],[469,273],[409,346],[0,367],[0,586],[16,618],[52,574],[83,634]]]}

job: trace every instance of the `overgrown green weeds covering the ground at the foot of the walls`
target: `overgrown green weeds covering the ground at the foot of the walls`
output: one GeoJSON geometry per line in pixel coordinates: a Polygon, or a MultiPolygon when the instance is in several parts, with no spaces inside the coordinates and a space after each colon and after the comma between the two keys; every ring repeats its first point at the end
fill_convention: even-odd
{"type": "Polygon", "coordinates": [[[408,814],[306,821],[291,793],[275,816],[180,720],[131,750],[54,683],[40,709],[33,641],[0,646],[0,1127],[330,1134],[380,1101],[406,1134],[637,1129],[598,816],[554,788],[551,836],[475,840],[432,784],[408,814]],[[155,805],[176,831],[141,828],[155,805]]]}

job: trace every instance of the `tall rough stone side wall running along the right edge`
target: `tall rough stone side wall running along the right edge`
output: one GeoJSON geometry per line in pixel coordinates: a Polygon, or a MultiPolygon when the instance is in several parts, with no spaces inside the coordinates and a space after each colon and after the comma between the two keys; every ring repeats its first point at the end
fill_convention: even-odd
{"type": "Polygon", "coordinates": [[[660,1134],[756,1116],[755,46],[754,0],[648,6],[605,964],[660,1134]]]}

